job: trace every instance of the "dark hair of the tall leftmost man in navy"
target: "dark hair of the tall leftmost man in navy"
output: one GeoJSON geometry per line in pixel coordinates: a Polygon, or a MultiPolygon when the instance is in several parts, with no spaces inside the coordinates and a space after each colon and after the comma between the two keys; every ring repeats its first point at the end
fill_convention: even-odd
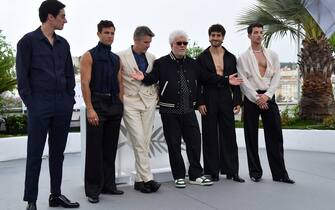
{"type": "Polygon", "coordinates": [[[65,5],[57,0],[46,0],[42,2],[38,9],[39,17],[42,23],[45,23],[48,19],[48,14],[56,17],[61,9],[64,9],[65,5]]]}

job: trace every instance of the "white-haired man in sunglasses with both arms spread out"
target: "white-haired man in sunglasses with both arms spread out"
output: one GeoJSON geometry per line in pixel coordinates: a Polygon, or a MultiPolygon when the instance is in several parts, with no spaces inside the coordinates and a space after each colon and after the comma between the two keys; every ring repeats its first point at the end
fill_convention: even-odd
{"type": "Polygon", "coordinates": [[[170,34],[171,52],[157,59],[150,73],[135,71],[132,77],[142,80],[146,85],[159,81],[159,111],[163,131],[169,150],[169,159],[173,178],[177,188],[186,187],[185,164],[181,154],[181,138],[186,144],[186,153],[190,163],[189,183],[201,186],[213,182],[202,175],[200,164],[201,137],[198,121],[194,112],[197,102],[198,81],[219,86],[229,83],[239,85],[241,79],[236,74],[222,77],[203,71],[195,60],[186,56],[188,36],[184,31],[170,34]]]}

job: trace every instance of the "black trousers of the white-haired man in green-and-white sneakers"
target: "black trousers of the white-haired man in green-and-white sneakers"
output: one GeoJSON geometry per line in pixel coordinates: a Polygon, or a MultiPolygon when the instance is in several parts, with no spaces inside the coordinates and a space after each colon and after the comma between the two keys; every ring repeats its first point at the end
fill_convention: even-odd
{"type": "Polygon", "coordinates": [[[161,113],[161,118],[173,178],[185,178],[186,170],[181,154],[182,137],[186,144],[186,153],[190,163],[189,178],[195,180],[200,177],[202,175],[200,165],[201,136],[195,112],[181,115],[161,113]]]}

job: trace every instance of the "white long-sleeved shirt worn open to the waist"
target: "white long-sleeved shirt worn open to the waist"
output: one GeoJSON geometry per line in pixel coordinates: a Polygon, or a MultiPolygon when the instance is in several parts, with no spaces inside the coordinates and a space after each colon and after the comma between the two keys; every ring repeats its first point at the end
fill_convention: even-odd
{"type": "Polygon", "coordinates": [[[240,85],[242,93],[256,103],[257,90],[264,90],[270,99],[275,94],[280,82],[280,63],[278,55],[266,48],[262,48],[267,60],[267,68],[262,77],[259,73],[258,62],[251,47],[237,59],[237,71],[243,79],[240,85]]]}

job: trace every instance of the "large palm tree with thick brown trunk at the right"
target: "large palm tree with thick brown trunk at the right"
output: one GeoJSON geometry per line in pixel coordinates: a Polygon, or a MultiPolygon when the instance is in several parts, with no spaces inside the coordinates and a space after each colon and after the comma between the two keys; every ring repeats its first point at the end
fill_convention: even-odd
{"type": "Polygon", "coordinates": [[[322,120],[335,112],[331,74],[334,71],[333,46],[305,8],[305,0],[257,0],[238,18],[241,30],[254,22],[264,25],[264,44],[273,38],[290,35],[302,38],[299,69],[303,79],[300,117],[322,120]],[[300,30],[302,29],[302,30],[300,30]]]}

